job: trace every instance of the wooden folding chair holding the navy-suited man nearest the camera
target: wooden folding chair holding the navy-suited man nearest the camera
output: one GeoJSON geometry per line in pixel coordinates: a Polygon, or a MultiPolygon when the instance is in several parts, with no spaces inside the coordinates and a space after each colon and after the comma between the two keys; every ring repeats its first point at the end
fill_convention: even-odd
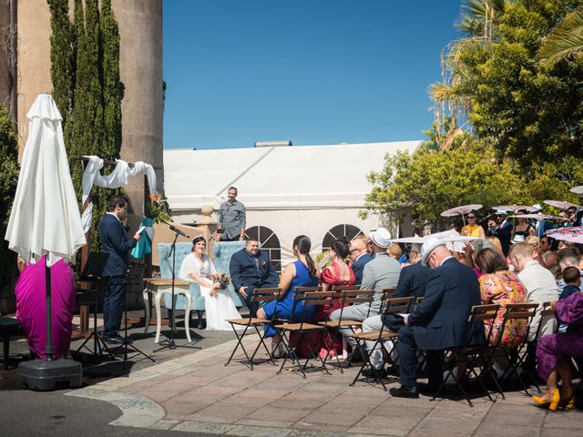
{"type": "Polygon", "coordinates": [[[472,404],[470,397],[468,396],[467,392],[464,390],[464,387],[460,382],[460,379],[462,377],[469,378],[469,376],[473,374],[476,377],[476,381],[478,381],[478,383],[482,387],[482,390],[486,392],[488,399],[490,401],[494,401],[494,399],[490,395],[490,392],[486,389],[486,385],[484,384],[483,381],[485,376],[487,375],[487,372],[489,371],[492,357],[492,355],[488,351],[490,348],[489,343],[492,335],[492,330],[488,330],[488,335],[486,336],[486,330],[484,330],[484,322],[488,320],[493,322],[494,320],[496,320],[496,316],[499,309],[500,305],[497,304],[475,305],[474,307],[472,307],[470,315],[467,318],[465,343],[460,347],[447,348],[445,349],[444,354],[439,355],[439,357],[442,360],[442,365],[444,367],[446,375],[444,381],[441,382],[441,384],[437,388],[437,391],[435,391],[433,398],[434,400],[437,396],[439,396],[439,393],[444,389],[445,383],[448,380],[448,378],[451,377],[455,381],[457,389],[464,394],[467,403],[469,403],[470,407],[473,407],[474,405],[472,404]],[[479,323],[479,326],[484,332],[483,335],[484,344],[478,345],[471,344],[472,333],[475,329],[476,323],[479,323]],[[458,369],[458,367],[454,366],[450,368],[449,366],[446,365],[445,355],[447,353],[450,353],[453,356],[455,356],[455,363],[459,361],[465,361],[466,367],[464,375],[455,375],[454,370],[458,369]],[[476,361],[479,363],[478,364],[479,372],[477,372],[475,369],[476,361]]]}

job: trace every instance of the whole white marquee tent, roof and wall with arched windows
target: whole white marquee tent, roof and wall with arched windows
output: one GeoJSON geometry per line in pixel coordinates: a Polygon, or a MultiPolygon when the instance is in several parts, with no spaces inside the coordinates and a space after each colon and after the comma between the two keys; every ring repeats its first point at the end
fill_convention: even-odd
{"type": "MultiPolygon", "coordinates": [[[[218,211],[226,201],[227,188],[238,188],[238,199],[247,208],[247,229],[262,227],[260,241],[269,247],[274,233],[285,265],[292,259],[292,240],[297,235],[310,237],[316,254],[322,250],[324,237],[331,237],[331,229],[350,236],[358,229],[367,233],[378,228],[378,217],[358,217],[372,188],[366,176],[383,168],[386,154],[413,152],[421,144],[166,149],[165,191],[174,221],[191,223],[202,217],[203,205],[218,211]]],[[[277,259],[280,253],[271,255],[277,259]]]]}

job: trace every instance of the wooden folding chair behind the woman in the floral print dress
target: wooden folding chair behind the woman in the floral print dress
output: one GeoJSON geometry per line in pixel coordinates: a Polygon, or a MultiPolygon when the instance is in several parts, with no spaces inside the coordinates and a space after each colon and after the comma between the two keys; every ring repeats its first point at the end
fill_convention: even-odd
{"type": "MultiPolygon", "coordinates": [[[[512,374],[516,375],[517,380],[522,385],[525,393],[527,396],[530,396],[530,393],[527,389],[527,384],[522,379],[520,372],[518,371],[518,367],[524,368],[525,364],[525,351],[527,350],[528,345],[528,337],[532,327],[532,320],[535,318],[537,314],[537,303],[508,303],[506,304],[506,314],[504,315],[504,322],[502,324],[502,330],[506,328],[506,323],[510,323],[511,320],[525,320],[528,325],[527,335],[525,338],[520,342],[520,344],[516,348],[511,348],[509,346],[503,346],[501,344],[501,338],[498,340],[497,350],[502,351],[506,356],[506,360],[508,361],[508,367],[506,367],[506,371],[502,373],[500,377],[500,383],[503,385],[505,378],[506,381],[510,381],[512,374]]],[[[541,319],[542,321],[542,319],[541,319]]],[[[531,377],[532,378],[532,377],[531,377]]]]}

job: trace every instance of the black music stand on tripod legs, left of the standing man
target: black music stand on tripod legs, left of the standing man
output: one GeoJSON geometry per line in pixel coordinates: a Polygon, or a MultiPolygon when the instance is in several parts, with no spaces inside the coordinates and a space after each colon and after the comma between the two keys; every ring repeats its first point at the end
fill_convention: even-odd
{"type": "Polygon", "coordinates": [[[75,359],[77,355],[82,349],[85,349],[89,352],[89,354],[93,357],[98,358],[99,360],[103,359],[104,351],[107,352],[107,355],[111,360],[115,360],[116,357],[114,354],[107,348],[106,341],[103,340],[101,333],[97,330],[97,311],[99,308],[99,296],[103,291],[103,280],[101,275],[103,273],[103,269],[107,264],[107,259],[109,258],[108,253],[104,252],[94,252],[89,255],[87,259],[87,263],[85,264],[85,268],[81,272],[81,282],[87,282],[93,287],[93,291],[95,294],[95,301],[93,302],[93,331],[91,334],[81,343],[81,346],[77,348],[77,351],[71,351],[71,356],[75,359]],[[93,351],[89,349],[87,343],[93,339],[93,351]]]}

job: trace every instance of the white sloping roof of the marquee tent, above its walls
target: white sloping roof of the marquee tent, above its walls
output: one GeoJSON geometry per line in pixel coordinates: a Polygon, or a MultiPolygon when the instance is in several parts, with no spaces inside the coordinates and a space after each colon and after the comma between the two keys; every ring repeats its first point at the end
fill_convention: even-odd
{"type": "Polygon", "coordinates": [[[230,186],[246,208],[362,208],[384,156],[413,152],[422,141],[212,150],[165,149],[172,209],[218,208],[230,186]]]}

